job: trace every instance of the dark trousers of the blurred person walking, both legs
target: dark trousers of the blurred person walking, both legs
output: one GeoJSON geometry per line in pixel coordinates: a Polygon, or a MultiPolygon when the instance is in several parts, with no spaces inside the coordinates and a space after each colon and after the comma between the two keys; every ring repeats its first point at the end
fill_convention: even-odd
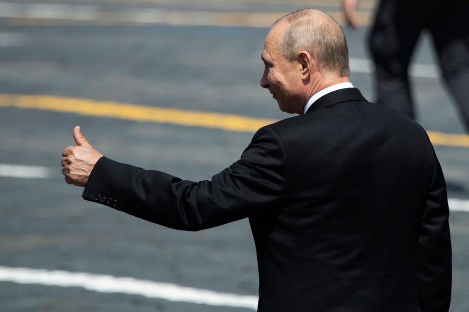
{"type": "Polygon", "coordinates": [[[408,66],[423,30],[469,131],[469,0],[382,0],[369,36],[377,103],[414,119],[408,66]]]}

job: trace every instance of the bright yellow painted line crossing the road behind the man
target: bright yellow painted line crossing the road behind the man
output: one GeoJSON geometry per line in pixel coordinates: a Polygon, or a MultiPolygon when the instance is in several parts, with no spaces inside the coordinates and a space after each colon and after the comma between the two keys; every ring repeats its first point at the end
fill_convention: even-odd
{"type": "MultiPolygon", "coordinates": [[[[0,94],[0,107],[40,109],[84,116],[117,118],[138,122],[203,127],[235,132],[256,132],[275,119],[254,118],[243,115],[153,107],[109,101],[96,101],[51,95],[0,94]]],[[[466,134],[427,131],[433,145],[469,147],[466,134]]]]}

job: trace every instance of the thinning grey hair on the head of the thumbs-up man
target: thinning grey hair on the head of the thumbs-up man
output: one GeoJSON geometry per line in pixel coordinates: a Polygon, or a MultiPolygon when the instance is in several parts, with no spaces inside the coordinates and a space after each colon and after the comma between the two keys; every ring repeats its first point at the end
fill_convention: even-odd
{"type": "Polygon", "coordinates": [[[285,58],[295,61],[299,51],[307,51],[324,77],[350,75],[347,41],[332,17],[318,10],[303,9],[285,15],[274,25],[278,22],[289,24],[278,44],[285,58]]]}

